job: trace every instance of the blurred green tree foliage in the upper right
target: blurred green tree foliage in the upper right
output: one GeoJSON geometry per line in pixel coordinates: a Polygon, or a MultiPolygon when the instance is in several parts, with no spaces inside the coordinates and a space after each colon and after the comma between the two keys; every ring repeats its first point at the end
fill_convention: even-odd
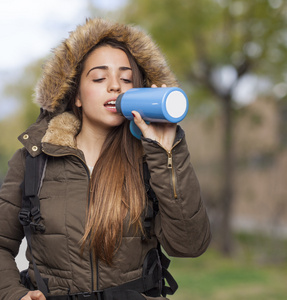
{"type": "Polygon", "coordinates": [[[133,0],[123,19],[152,35],[198,103],[228,92],[211,78],[223,66],[236,72],[230,88],[247,73],[284,82],[286,12],[280,0],[133,0]]]}

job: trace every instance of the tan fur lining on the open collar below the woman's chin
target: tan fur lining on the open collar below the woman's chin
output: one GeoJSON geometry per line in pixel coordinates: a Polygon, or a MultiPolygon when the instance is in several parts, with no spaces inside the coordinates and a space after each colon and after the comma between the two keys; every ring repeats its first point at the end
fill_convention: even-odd
{"type": "Polygon", "coordinates": [[[75,136],[79,129],[79,119],[72,113],[64,112],[50,121],[42,143],[77,148],[75,136]]]}

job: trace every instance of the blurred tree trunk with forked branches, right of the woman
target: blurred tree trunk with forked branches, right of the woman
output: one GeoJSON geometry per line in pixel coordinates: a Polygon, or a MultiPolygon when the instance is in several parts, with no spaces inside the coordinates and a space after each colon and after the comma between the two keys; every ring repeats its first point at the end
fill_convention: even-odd
{"type": "Polygon", "coordinates": [[[211,72],[215,69],[210,62],[207,63],[201,60],[204,71],[196,74],[189,73],[189,80],[197,82],[206,90],[213,94],[214,98],[219,101],[221,106],[221,126],[222,126],[222,156],[221,156],[221,193],[219,195],[220,201],[218,203],[219,230],[216,232],[216,239],[222,253],[230,255],[233,251],[233,239],[231,230],[232,209],[234,202],[234,177],[235,177],[235,153],[234,153],[234,115],[235,108],[233,103],[232,91],[233,87],[238,84],[241,77],[244,76],[249,68],[250,63],[243,61],[241,66],[236,69],[236,79],[229,89],[221,91],[216,84],[211,80],[211,72]]]}

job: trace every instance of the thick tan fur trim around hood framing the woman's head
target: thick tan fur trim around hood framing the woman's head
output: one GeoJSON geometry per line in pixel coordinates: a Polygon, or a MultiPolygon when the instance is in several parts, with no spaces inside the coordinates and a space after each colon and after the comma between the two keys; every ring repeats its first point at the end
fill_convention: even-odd
{"type": "Polygon", "coordinates": [[[89,19],[54,49],[54,55],[43,66],[43,76],[36,86],[35,102],[49,112],[63,112],[77,65],[93,46],[106,37],[127,45],[146,72],[146,86],[153,83],[158,86],[164,83],[167,86],[178,85],[164,56],[141,29],[103,19],[89,19]]]}

